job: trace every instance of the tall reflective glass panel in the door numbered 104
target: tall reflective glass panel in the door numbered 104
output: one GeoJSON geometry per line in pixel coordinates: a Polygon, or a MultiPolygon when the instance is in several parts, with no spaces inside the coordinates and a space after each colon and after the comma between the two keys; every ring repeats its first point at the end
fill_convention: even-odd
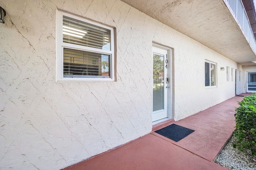
{"type": "Polygon", "coordinates": [[[164,55],[153,53],[153,111],[164,109],[164,55]]]}

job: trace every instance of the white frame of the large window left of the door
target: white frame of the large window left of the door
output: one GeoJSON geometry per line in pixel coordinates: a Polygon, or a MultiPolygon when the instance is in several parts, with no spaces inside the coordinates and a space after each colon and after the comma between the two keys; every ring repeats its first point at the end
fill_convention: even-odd
{"type": "Polygon", "coordinates": [[[80,18],[78,16],[74,16],[71,14],[67,14],[65,12],[58,11],[57,12],[57,30],[56,30],[56,41],[57,41],[57,51],[56,51],[56,81],[114,81],[115,80],[115,45],[114,45],[114,28],[108,27],[106,25],[96,23],[90,20],[86,20],[84,18],[80,18]],[[92,25],[96,25],[99,27],[103,27],[106,29],[110,30],[110,36],[111,36],[111,42],[110,42],[110,51],[109,50],[104,50],[104,49],[97,49],[93,47],[86,47],[82,45],[76,45],[76,44],[71,44],[71,43],[64,43],[63,42],[63,16],[67,16],[69,18],[74,18],[75,20],[80,20],[92,25]],[[88,51],[92,53],[100,53],[100,54],[105,54],[105,55],[110,55],[110,78],[91,78],[91,77],[64,77],[63,73],[63,49],[68,48],[68,49],[76,49],[76,50],[81,50],[81,51],[88,51]]]}

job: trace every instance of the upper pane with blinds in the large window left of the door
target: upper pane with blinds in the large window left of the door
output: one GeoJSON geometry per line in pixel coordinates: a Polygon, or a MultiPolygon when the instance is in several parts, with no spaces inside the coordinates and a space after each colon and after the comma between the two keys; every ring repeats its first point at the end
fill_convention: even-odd
{"type": "Polygon", "coordinates": [[[110,30],[63,16],[63,42],[110,49],[110,30]]]}

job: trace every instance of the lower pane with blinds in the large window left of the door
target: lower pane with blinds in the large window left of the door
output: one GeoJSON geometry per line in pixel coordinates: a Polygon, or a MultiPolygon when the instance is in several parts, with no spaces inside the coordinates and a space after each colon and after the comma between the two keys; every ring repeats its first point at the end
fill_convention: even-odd
{"type": "Polygon", "coordinates": [[[75,49],[63,49],[64,77],[110,78],[110,55],[75,49]]]}

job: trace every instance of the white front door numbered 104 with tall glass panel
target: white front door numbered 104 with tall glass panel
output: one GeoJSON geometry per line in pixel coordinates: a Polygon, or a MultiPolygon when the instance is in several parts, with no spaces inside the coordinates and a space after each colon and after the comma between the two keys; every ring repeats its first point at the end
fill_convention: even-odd
{"type": "Polygon", "coordinates": [[[153,55],[153,114],[152,121],[168,117],[168,91],[170,91],[170,69],[168,51],[152,47],[153,55]]]}

